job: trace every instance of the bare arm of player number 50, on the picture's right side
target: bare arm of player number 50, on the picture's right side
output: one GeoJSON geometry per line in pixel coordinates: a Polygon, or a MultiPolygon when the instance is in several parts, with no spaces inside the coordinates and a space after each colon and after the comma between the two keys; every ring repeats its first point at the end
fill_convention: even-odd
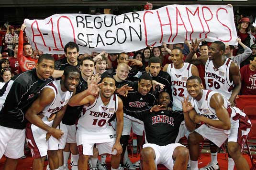
{"type": "Polygon", "coordinates": [[[234,83],[234,89],[232,91],[229,102],[231,106],[234,106],[234,100],[238,95],[239,91],[241,90],[242,85],[241,85],[241,74],[240,74],[239,68],[233,61],[230,65],[229,74],[231,75],[234,83]]]}

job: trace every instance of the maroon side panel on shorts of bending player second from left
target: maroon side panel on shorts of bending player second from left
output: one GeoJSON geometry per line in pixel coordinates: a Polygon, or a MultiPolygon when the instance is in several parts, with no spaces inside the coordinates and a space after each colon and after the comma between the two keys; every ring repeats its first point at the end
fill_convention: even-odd
{"type": "Polygon", "coordinates": [[[43,157],[43,156],[45,156],[45,155],[42,155],[41,156],[41,154],[40,154],[40,152],[39,152],[39,149],[38,149],[38,147],[37,147],[37,145],[36,145],[36,142],[35,142],[35,140],[34,140],[34,137],[33,137],[33,132],[32,132],[32,130],[31,130],[31,123],[30,122],[28,122],[27,124],[26,124],[26,138],[27,139],[29,139],[29,140],[31,140],[31,142],[32,142],[32,144],[30,143],[30,142],[27,142],[28,143],[28,147],[29,147],[29,149],[31,150],[31,153],[32,153],[32,157],[33,158],[41,158],[41,157],[43,157]]]}

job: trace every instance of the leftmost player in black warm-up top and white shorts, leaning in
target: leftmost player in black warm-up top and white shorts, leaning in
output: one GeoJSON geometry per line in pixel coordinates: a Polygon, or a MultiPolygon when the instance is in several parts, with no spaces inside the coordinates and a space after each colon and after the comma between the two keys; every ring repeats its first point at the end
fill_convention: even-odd
{"type": "Polygon", "coordinates": [[[24,113],[40,90],[52,82],[53,70],[53,57],[43,54],[35,69],[14,76],[0,90],[0,158],[3,154],[7,157],[4,170],[16,170],[17,159],[24,155],[24,113]]]}

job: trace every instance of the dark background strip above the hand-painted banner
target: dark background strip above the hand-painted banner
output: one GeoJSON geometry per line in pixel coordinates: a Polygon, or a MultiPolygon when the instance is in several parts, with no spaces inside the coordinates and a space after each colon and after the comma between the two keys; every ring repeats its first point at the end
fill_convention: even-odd
{"type": "MultiPolygon", "coordinates": [[[[148,0],[0,0],[0,25],[6,21],[20,25],[25,18],[45,19],[56,13],[102,12],[104,8],[119,13],[143,10],[148,0]]],[[[153,9],[171,4],[225,5],[231,3],[235,11],[256,16],[256,0],[209,1],[209,0],[150,0],[153,9]]]]}

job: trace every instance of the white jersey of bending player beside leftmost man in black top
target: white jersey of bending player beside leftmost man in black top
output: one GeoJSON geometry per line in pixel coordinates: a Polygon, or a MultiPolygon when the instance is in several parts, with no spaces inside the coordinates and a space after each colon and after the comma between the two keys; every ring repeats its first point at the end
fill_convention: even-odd
{"type": "Polygon", "coordinates": [[[51,88],[54,90],[55,98],[51,104],[45,107],[43,110],[43,114],[46,117],[49,117],[51,114],[61,110],[63,106],[67,104],[69,99],[71,98],[73,92],[70,91],[62,91],[60,87],[60,80],[53,81],[46,85],[44,88],[51,88]]]}

